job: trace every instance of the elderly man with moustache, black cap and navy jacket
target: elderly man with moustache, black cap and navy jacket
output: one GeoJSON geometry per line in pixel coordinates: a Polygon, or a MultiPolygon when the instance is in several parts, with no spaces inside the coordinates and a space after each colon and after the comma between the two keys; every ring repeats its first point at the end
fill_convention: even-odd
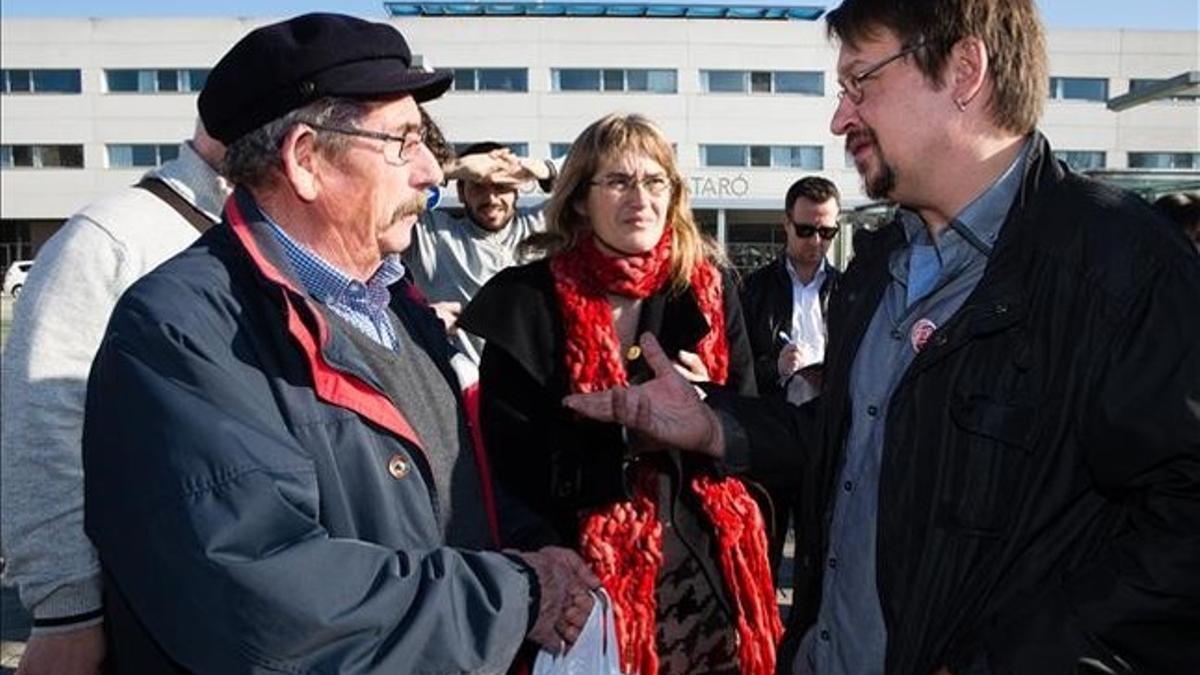
{"type": "Polygon", "coordinates": [[[96,358],[86,532],[121,673],[503,673],[598,581],[496,552],[497,495],[440,323],[402,281],[442,179],[391,26],[258,29],[199,98],[223,222],[136,283],[96,358]]]}

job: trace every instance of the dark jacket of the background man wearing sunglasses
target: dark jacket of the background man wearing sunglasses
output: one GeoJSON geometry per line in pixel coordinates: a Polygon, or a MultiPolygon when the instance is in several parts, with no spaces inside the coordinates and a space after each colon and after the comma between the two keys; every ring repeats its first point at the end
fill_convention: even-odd
{"type": "MultiPolygon", "coordinates": [[[[746,334],[754,353],[754,376],[758,394],[782,396],[779,386],[779,331],[792,328],[792,279],[787,274],[784,253],[754,270],[742,282],[742,310],[745,312],[746,334]]],[[[826,264],[826,280],[821,283],[821,313],[828,310],[829,292],[841,275],[838,268],[826,264]]]]}

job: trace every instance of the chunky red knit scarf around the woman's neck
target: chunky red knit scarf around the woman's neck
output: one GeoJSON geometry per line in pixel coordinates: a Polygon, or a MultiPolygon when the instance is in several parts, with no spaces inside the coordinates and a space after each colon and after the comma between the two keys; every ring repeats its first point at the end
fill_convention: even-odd
{"type": "MultiPolygon", "coordinates": [[[[588,237],[551,261],[563,311],[572,392],[602,392],[629,384],[606,295],[646,298],[659,291],[670,274],[671,245],[667,227],[652,251],[610,257],[588,237]]],[[[724,383],[728,377],[730,353],[720,274],[703,261],[692,271],[690,285],[712,327],[696,352],[709,378],[724,383]]],[[[658,675],[654,589],[662,565],[662,526],[654,497],[654,472],[646,465],[641,467],[631,480],[630,501],[596,508],[583,516],[580,546],[612,597],[622,671],[658,675]]],[[[736,478],[697,476],[691,489],[716,534],[722,577],[737,613],[742,673],[770,675],[775,671],[775,644],[782,623],[775,605],[762,514],[736,478]]]]}

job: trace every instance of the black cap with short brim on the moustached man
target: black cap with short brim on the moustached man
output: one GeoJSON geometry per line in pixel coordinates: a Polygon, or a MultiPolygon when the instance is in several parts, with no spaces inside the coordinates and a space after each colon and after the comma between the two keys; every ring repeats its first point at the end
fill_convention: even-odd
{"type": "Polygon", "coordinates": [[[449,72],[413,70],[391,25],[344,14],[304,14],[256,29],[217,61],[200,91],[200,120],[224,144],[325,96],[440,96],[449,72]]]}

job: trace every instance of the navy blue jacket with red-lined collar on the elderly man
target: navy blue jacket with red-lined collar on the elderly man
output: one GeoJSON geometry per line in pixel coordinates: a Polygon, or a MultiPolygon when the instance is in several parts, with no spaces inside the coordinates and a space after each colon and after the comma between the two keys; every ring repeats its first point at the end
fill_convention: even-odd
{"type": "MultiPolygon", "coordinates": [[[[239,190],[220,226],[122,297],[94,364],[85,528],[112,665],[504,671],[536,592],[527,568],[446,546],[438,448],[330,330],[268,227],[239,190]]],[[[457,392],[440,324],[392,291],[457,392]]]]}

